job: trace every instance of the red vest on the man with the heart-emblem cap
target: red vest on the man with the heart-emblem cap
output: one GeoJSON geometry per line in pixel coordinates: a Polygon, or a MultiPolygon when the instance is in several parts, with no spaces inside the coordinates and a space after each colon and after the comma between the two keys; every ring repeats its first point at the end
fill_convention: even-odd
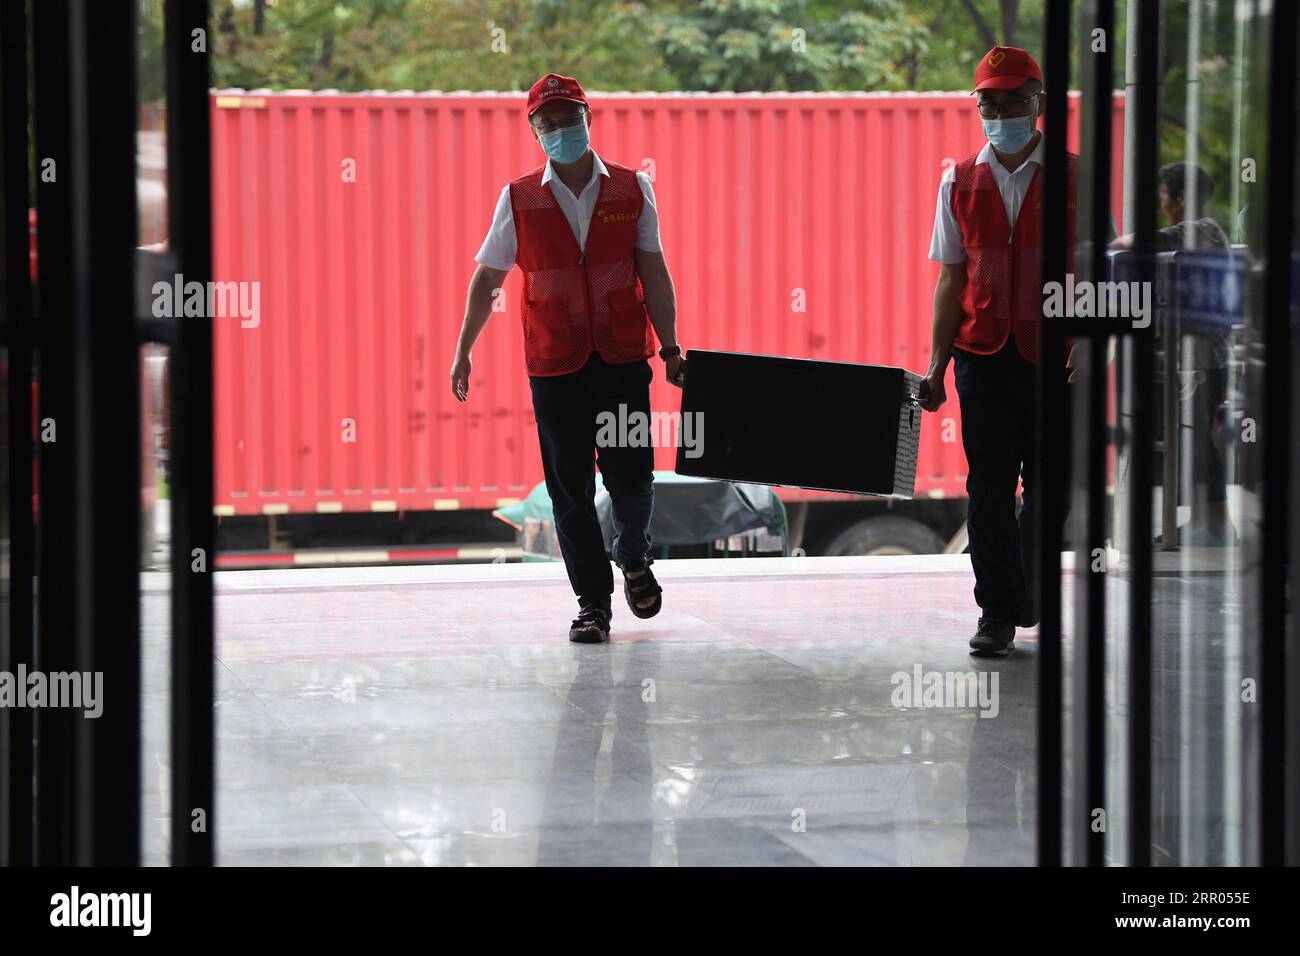
{"type": "MultiPolygon", "coordinates": [[[[1034,170],[1030,190],[1020,203],[1015,228],[1006,220],[1006,206],[988,163],[976,164],[978,153],[957,164],[953,179],[953,216],[966,247],[966,287],[962,289],[962,323],[953,341],[958,349],[991,355],[1015,336],[1015,347],[1030,362],[1039,360],[1039,323],[1043,321],[1043,282],[1039,238],[1043,216],[1043,169],[1034,170]]],[[[997,157],[989,160],[996,163],[997,157]]],[[[1074,269],[1074,207],[1078,195],[1079,157],[1066,155],[1066,271],[1074,269]]]]}

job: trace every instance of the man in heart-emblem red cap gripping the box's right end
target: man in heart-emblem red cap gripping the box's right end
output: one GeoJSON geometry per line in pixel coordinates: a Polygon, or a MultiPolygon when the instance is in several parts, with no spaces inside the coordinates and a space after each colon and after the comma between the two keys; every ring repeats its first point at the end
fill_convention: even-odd
{"type": "MultiPolygon", "coordinates": [[[[966,527],[982,611],[970,645],[976,654],[1002,656],[1014,646],[1017,626],[1037,624],[1032,471],[1034,367],[1043,317],[1043,74],[1026,51],[994,47],[975,69],[974,94],[988,143],[940,181],[930,246],[940,272],[920,399],[927,411],[944,403],[952,356],[968,466],[966,527]],[[1017,483],[1023,485],[1018,518],[1017,483]]],[[[1066,242],[1072,254],[1078,156],[1066,161],[1066,242]]]]}

